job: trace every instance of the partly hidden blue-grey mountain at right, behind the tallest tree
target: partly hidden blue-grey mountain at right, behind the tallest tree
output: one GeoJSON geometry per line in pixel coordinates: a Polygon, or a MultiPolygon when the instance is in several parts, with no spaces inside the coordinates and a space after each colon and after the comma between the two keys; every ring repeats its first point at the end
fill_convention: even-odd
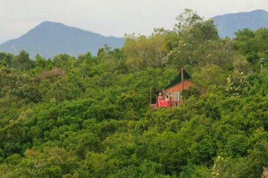
{"type": "Polygon", "coordinates": [[[219,36],[222,38],[234,37],[234,32],[239,29],[268,28],[268,12],[265,10],[219,15],[213,19],[219,30],[219,36]]]}

